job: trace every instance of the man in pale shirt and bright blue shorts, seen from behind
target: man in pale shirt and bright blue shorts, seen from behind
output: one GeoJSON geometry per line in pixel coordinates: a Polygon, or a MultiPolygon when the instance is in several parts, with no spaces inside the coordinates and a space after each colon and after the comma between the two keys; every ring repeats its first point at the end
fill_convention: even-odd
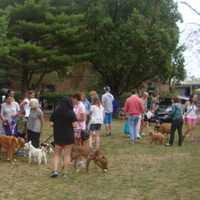
{"type": "Polygon", "coordinates": [[[104,107],[104,124],[106,127],[107,136],[111,136],[112,132],[112,113],[114,97],[110,93],[110,87],[104,87],[105,93],[102,96],[102,105],[104,107]]]}

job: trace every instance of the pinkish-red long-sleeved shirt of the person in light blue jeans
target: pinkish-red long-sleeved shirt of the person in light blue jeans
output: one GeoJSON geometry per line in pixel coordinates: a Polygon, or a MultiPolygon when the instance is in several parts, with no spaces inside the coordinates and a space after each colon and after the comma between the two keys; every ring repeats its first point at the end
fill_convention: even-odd
{"type": "Polygon", "coordinates": [[[127,98],[124,111],[129,115],[139,116],[144,112],[144,102],[137,95],[132,95],[127,98]]]}

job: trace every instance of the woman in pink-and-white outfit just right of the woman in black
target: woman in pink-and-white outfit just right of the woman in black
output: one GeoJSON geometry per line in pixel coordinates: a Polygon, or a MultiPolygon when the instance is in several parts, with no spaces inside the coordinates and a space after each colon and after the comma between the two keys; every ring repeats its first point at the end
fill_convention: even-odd
{"type": "Polygon", "coordinates": [[[72,101],[74,105],[74,112],[77,118],[77,125],[75,128],[75,143],[83,145],[82,134],[86,131],[86,120],[87,114],[85,106],[81,101],[81,94],[77,93],[72,96],[72,101]]]}

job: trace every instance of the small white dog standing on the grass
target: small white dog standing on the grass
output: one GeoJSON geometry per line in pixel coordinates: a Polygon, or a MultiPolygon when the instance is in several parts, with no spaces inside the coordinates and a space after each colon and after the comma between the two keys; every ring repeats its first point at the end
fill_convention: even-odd
{"type": "Polygon", "coordinates": [[[25,144],[25,149],[28,150],[29,164],[32,162],[32,159],[38,162],[39,165],[42,163],[42,161],[47,164],[46,150],[44,147],[41,149],[35,148],[31,141],[29,141],[25,144]]]}

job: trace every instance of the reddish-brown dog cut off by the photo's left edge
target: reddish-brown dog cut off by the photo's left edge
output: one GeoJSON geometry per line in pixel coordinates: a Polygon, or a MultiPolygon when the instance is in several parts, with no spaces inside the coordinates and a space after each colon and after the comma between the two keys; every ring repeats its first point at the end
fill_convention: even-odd
{"type": "Polygon", "coordinates": [[[14,154],[18,149],[23,147],[24,141],[21,138],[16,138],[14,136],[0,136],[0,151],[6,153],[6,159],[12,161],[14,154]]]}

